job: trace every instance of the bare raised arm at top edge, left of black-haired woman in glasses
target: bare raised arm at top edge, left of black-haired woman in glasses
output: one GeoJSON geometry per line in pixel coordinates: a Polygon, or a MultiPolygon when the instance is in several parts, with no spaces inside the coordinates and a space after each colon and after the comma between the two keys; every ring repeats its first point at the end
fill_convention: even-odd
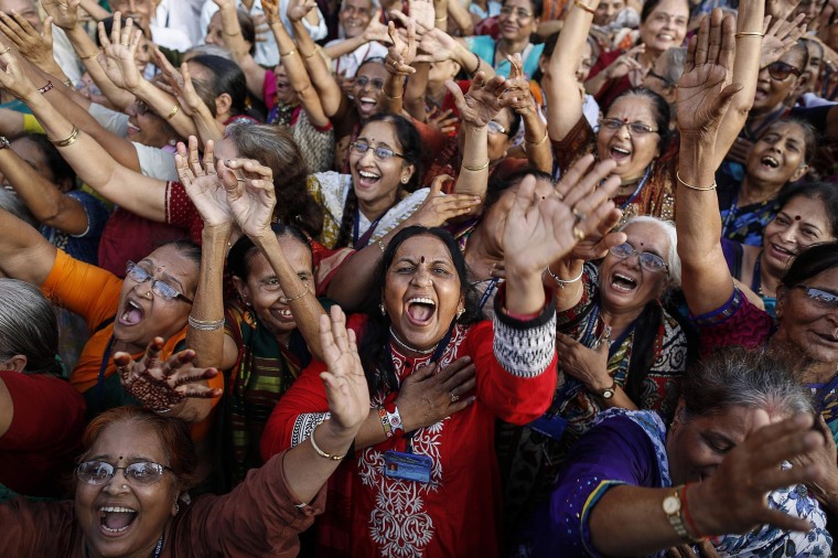
{"type": "Polygon", "coordinates": [[[591,12],[578,3],[570,8],[547,65],[542,85],[547,105],[552,107],[547,111],[547,129],[554,141],[563,140],[582,118],[582,97],[574,93],[579,89],[576,71],[593,22],[592,12],[599,4],[599,0],[588,3],[591,12]]]}

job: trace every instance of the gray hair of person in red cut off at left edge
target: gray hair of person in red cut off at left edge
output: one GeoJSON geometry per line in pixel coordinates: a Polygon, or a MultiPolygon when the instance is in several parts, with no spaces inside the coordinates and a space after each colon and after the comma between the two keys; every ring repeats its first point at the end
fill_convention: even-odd
{"type": "Polygon", "coordinates": [[[55,309],[37,287],[0,279],[0,361],[26,357],[26,372],[61,373],[58,321],[55,309]]]}

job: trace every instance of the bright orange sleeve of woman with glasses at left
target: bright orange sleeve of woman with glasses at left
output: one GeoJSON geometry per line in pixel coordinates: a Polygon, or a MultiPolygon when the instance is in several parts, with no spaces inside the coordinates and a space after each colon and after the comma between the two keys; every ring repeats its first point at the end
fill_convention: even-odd
{"type": "Polygon", "coordinates": [[[83,316],[89,330],[114,315],[121,290],[122,280],[117,276],[73,259],[63,250],[57,250],[41,286],[44,297],[83,316]]]}

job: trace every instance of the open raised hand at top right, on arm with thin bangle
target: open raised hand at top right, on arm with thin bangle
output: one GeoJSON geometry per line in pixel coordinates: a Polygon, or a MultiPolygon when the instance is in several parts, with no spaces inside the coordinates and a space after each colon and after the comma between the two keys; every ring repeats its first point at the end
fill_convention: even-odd
{"type": "Polygon", "coordinates": [[[687,63],[678,81],[678,127],[681,135],[716,139],[719,124],[733,95],[742,89],[731,84],[735,56],[735,21],[720,9],[701,20],[698,36],[689,42],[687,63]]]}

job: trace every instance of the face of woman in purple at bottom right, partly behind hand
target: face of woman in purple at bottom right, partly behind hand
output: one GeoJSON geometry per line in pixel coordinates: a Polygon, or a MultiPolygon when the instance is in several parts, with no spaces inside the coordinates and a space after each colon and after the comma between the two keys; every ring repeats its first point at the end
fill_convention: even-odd
{"type": "Polygon", "coordinates": [[[715,415],[691,417],[683,422],[681,406],[666,439],[673,484],[698,482],[710,477],[730,450],[755,430],[786,418],[777,411],[749,407],[730,407],[715,415]]]}

